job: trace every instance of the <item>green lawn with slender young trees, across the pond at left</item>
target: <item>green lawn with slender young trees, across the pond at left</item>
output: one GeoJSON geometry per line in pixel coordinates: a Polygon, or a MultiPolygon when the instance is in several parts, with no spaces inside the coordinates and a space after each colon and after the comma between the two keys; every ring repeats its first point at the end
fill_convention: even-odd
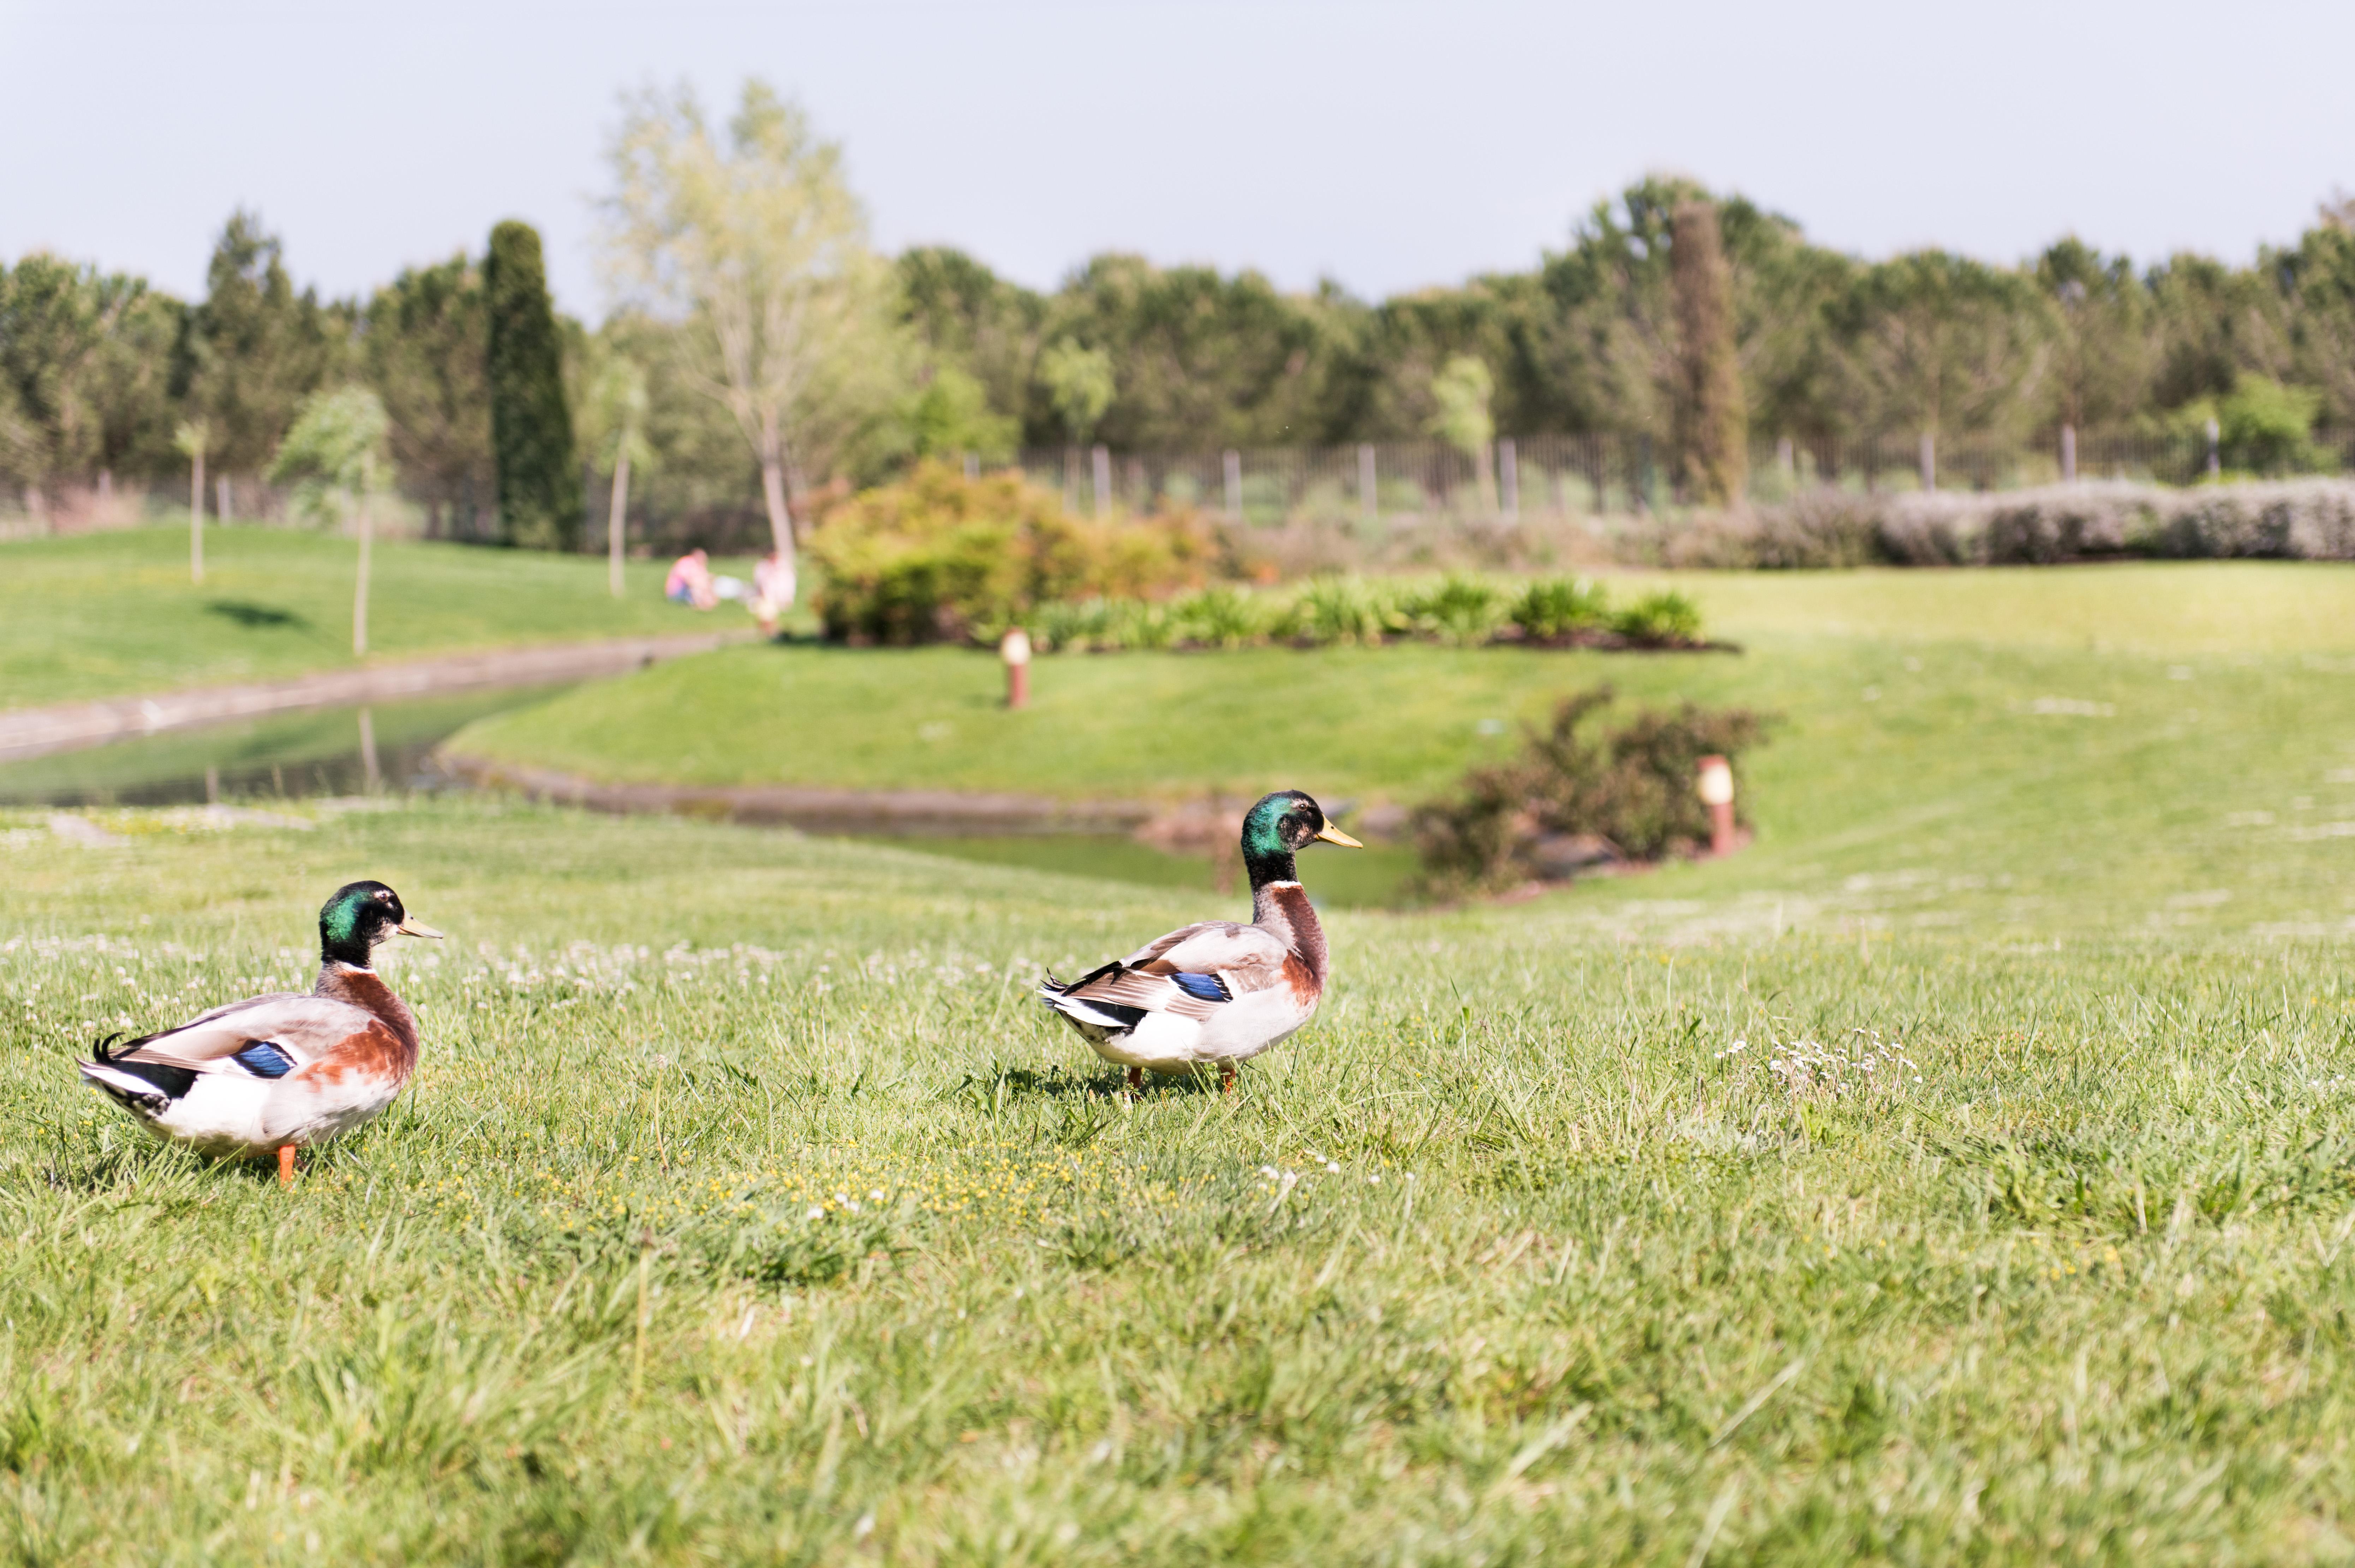
{"type": "MultiPolygon", "coordinates": [[[[0,544],[0,709],[346,669],[358,551],[316,532],[207,527],[195,586],[184,527],[0,544]]],[[[379,542],[370,657],[749,626],[735,607],[664,603],[666,570],[631,560],[629,598],[615,600],[596,556],[379,542]]]]}

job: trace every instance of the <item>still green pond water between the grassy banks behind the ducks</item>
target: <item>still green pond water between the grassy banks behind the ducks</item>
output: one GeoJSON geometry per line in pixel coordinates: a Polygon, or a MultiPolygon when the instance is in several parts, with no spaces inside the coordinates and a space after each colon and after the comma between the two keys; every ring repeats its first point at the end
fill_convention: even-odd
{"type": "MultiPolygon", "coordinates": [[[[565,687],[316,709],[0,763],[0,805],[203,805],[466,789],[436,768],[433,749],[476,718],[542,702],[558,690],[565,687]]],[[[1236,906],[1243,899],[1232,852],[1170,855],[1119,833],[862,838],[991,866],[1199,890],[1232,897],[1236,906]]],[[[1389,845],[1312,850],[1302,871],[1319,904],[1364,909],[1394,904],[1415,871],[1415,857],[1389,845]]]]}

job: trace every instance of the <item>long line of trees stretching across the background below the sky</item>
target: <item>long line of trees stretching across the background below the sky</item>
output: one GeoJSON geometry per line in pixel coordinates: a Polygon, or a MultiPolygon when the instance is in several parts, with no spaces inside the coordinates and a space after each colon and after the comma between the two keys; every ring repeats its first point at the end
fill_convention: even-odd
{"type": "MultiPolygon", "coordinates": [[[[2018,264],[1882,261],[1738,193],[1644,179],[1559,252],[1364,301],[1253,271],[1100,254],[1053,292],[951,247],[878,257],[838,148],[749,82],[624,104],[598,325],[546,308],[539,240],[299,290],[257,214],[205,297],[52,254],[0,266],[0,480],[28,506],[99,473],[261,476],[306,398],[358,384],[400,487],[447,537],[577,546],[582,478],[624,459],[676,506],[805,499],[926,454],[1218,450],[1488,431],[1648,436],[1698,499],[1752,438],[2169,431],[2233,398],[2355,424],[2355,207],[2251,266],[2150,266],[2077,238],[2018,264]],[[504,358],[502,358],[504,356],[504,358]]],[[[624,476],[626,485],[626,476],[624,476]]],[[[619,499],[617,487],[617,499],[619,499]]]]}

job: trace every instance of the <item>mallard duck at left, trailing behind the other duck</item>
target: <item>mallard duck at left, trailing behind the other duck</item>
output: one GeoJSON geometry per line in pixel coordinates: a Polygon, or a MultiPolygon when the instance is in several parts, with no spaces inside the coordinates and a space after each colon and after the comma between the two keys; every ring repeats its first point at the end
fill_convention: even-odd
{"type": "Polygon", "coordinates": [[[377,979],[374,949],[393,935],[440,937],[384,883],[346,883],[318,911],[318,984],[214,1008],[179,1029],[92,1048],[78,1062],[155,1137],[203,1154],[294,1149],[346,1132],[393,1102],[417,1069],[417,1017],[377,979]]]}

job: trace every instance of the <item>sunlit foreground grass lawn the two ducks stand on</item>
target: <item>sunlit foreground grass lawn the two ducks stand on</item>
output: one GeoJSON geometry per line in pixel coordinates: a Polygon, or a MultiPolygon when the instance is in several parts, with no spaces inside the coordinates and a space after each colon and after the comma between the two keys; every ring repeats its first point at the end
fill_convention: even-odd
{"type": "MultiPolygon", "coordinates": [[[[2343,1561],[2348,650],[2164,619],[2339,579],[2202,572],[1604,662],[1787,709],[1759,845],[1335,911],[1234,1097],[1123,1102],[1027,996],[1199,892],[497,800],[0,815],[0,1549],[2343,1561]],[[452,932],[386,961],[426,1062],[292,1196],[73,1085],[299,984],[360,873],[452,932]]],[[[1041,685],[1163,664],[1218,669],[1041,685]]]]}

